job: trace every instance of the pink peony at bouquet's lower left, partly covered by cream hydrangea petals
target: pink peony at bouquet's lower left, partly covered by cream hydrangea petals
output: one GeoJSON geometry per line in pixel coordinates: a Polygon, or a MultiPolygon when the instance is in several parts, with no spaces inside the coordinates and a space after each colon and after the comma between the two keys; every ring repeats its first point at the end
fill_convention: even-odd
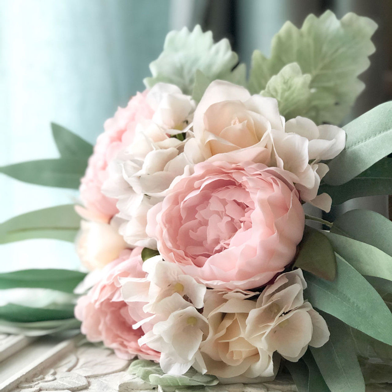
{"type": "Polygon", "coordinates": [[[82,321],[82,333],[92,342],[103,341],[106,347],[124,359],[136,355],[145,359],[159,360],[160,354],[146,345],[139,346],[138,339],[144,335],[142,328],[133,329],[135,314],[143,314],[143,303],[127,304],[121,295],[119,278],[145,278],[142,270],[143,248],[124,250],[120,258],[108,264],[101,279],[87,295],[78,299],[75,317],[82,321]]]}

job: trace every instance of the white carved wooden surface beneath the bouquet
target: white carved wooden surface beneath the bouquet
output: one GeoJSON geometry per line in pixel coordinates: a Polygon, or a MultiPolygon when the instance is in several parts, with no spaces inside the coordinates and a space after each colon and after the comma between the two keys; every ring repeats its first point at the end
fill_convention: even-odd
{"type": "MultiPolygon", "coordinates": [[[[14,341],[18,345],[26,344],[19,336],[0,335],[1,347],[14,341]],[[6,344],[5,341],[8,343],[6,344]],[[18,343],[19,342],[19,343],[18,343]],[[23,342],[23,343],[21,343],[23,342]]],[[[143,380],[126,372],[130,361],[120,359],[106,348],[92,345],[80,345],[81,337],[61,341],[38,355],[34,361],[21,365],[0,385],[0,392],[160,392],[143,380]]],[[[35,344],[35,343],[34,343],[35,344]]],[[[38,347],[38,343],[37,343],[38,347]]],[[[28,348],[26,348],[27,350],[28,348]]],[[[5,352],[5,350],[3,350],[5,352]]],[[[10,352],[10,351],[9,351],[10,352]]],[[[8,354],[9,354],[8,352],[8,354]]],[[[16,354],[23,358],[23,351],[16,354]]],[[[5,357],[4,357],[5,358],[5,357]]],[[[0,362],[0,374],[2,365],[0,362]]],[[[200,389],[198,389],[200,391],[200,389]]],[[[273,381],[263,384],[232,384],[205,387],[205,392],[296,392],[291,381],[273,381]]],[[[385,386],[371,386],[367,392],[392,391],[385,386]]],[[[317,391],[314,391],[317,392],[317,391]]]]}

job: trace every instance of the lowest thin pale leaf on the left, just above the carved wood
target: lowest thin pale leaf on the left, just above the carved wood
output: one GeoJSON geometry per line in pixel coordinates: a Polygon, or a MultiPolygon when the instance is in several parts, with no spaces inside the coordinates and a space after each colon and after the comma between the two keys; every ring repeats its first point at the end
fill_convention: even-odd
{"type": "Polygon", "coordinates": [[[17,323],[0,319],[0,333],[24,336],[44,336],[64,330],[80,328],[80,324],[80,321],[75,318],[35,321],[32,323],[17,323]]]}

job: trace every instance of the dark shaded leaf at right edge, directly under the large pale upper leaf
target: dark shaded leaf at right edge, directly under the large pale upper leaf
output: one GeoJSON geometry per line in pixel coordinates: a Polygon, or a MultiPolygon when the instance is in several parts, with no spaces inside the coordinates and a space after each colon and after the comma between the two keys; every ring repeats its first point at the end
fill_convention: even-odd
{"type": "Polygon", "coordinates": [[[337,186],[323,184],[318,193],[326,192],[337,205],[363,196],[392,194],[392,158],[383,158],[352,180],[337,186]]]}

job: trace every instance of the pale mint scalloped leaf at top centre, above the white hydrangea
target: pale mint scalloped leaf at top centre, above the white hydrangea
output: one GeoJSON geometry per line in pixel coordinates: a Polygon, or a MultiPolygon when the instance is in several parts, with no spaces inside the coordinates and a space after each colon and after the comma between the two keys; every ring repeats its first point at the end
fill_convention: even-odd
{"type": "Polygon", "coordinates": [[[203,33],[199,25],[191,32],[184,27],[167,34],[163,52],[150,64],[152,77],[145,78],[144,83],[147,87],[172,83],[184,94],[192,94],[197,70],[209,80],[227,80],[237,62],[227,39],[214,44],[211,31],[203,33]]]}

